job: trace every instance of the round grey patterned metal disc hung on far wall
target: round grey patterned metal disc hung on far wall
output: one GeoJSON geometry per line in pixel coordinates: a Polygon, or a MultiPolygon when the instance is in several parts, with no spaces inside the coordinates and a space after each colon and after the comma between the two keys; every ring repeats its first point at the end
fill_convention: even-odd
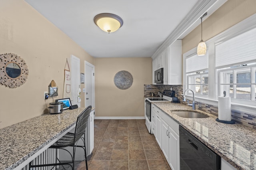
{"type": "Polygon", "coordinates": [[[114,83],[118,89],[129,89],[132,86],[132,82],[132,75],[128,71],[118,71],[114,77],[114,83]]]}

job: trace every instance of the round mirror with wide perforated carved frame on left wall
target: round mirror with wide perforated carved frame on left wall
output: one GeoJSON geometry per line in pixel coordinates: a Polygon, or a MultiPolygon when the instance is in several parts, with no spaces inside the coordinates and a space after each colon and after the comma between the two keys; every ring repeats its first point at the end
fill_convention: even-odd
{"type": "Polygon", "coordinates": [[[28,78],[28,66],[24,59],[14,53],[0,55],[0,83],[6,87],[16,88],[23,85],[28,78]]]}

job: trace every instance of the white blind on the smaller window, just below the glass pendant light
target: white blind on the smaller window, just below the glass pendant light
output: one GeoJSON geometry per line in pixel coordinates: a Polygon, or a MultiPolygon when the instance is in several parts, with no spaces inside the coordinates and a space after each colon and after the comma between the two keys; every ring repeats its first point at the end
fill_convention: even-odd
{"type": "Polygon", "coordinates": [[[186,73],[208,69],[208,50],[203,56],[193,55],[186,59],[186,73]]]}

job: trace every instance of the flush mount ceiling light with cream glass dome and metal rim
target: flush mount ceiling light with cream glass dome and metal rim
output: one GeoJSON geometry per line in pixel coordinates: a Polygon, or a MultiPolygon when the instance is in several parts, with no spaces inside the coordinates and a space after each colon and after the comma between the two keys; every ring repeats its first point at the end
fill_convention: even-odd
{"type": "Polygon", "coordinates": [[[94,17],[94,23],[104,32],[115,32],[123,25],[123,20],[119,16],[110,13],[98,14],[94,17]]]}

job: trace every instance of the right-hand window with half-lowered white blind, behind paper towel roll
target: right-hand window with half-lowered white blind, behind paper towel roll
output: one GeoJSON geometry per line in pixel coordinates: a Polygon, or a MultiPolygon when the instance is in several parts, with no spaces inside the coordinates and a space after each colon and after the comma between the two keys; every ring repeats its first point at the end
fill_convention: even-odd
{"type": "Polygon", "coordinates": [[[249,63],[256,59],[255,37],[256,28],[216,45],[218,93],[222,95],[226,91],[232,102],[255,101],[256,65],[255,62],[249,63]]]}

